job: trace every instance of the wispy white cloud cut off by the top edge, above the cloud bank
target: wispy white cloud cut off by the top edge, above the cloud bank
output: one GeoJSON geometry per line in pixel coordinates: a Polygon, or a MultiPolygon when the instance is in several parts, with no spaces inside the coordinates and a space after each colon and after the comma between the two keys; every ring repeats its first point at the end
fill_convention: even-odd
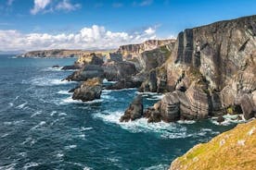
{"type": "Polygon", "coordinates": [[[55,10],[72,11],[81,7],[80,4],[70,3],[70,0],[62,0],[58,3],[53,0],[34,0],[33,4],[34,6],[31,9],[32,15],[36,15],[39,12],[53,12],[55,10]]]}

